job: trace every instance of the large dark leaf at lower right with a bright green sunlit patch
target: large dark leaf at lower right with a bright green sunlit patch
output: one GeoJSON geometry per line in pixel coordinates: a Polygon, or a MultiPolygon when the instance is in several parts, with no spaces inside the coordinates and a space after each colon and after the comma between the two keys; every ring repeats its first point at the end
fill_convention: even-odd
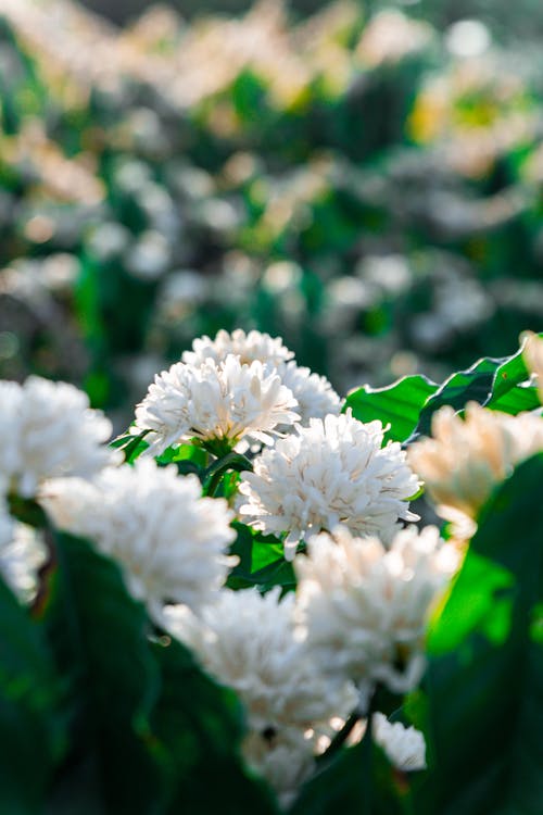
{"type": "Polygon", "coordinates": [[[543,454],[521,464],[479,518],[429,637],[435,764],[417,813],[539,815],[543,800],[543,454]]]}

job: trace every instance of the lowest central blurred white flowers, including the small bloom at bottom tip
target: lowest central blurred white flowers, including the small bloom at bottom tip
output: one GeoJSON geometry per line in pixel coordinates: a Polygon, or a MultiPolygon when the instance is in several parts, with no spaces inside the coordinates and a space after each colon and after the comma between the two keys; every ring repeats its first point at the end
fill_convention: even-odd
{"type": "Polygon", "coordinates": [[[279,591],[224,590],[200,617],[187,609],[165,614],[172,634],[238,692],[249,719],[243,754],[286,803],[313,769],[319,735],[330,731],[332,718],[349,715],[357,693],[319,670],[296,638],[294,595],[280,602],[279,591]]]}

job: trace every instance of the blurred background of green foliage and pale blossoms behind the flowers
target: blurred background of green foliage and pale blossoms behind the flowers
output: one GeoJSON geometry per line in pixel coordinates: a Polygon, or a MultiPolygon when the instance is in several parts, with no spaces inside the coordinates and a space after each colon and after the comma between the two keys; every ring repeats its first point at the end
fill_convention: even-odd
{"type": "Polygon", "coordinates": [[[538,0],[88,5],[0,0],[1,377],[122,425],[222,327],[342,393],[542,330],[538,0]]]}

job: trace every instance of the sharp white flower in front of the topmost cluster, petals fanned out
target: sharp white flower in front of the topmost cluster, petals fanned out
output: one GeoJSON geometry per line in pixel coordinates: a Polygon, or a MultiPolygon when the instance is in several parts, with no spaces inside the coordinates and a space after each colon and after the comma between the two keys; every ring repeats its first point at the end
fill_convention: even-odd
{"type": "Polygon", "coordinates": [[[296,401],[274,372],[258,361],[243,365],[229,354],[199,366],[178,362],[155,377],[136,408],[136,432],[146,437],[153,455],[197,438],[231,449],[244,436],[270,443],[278,425],[299,417],[296,401]]]}

